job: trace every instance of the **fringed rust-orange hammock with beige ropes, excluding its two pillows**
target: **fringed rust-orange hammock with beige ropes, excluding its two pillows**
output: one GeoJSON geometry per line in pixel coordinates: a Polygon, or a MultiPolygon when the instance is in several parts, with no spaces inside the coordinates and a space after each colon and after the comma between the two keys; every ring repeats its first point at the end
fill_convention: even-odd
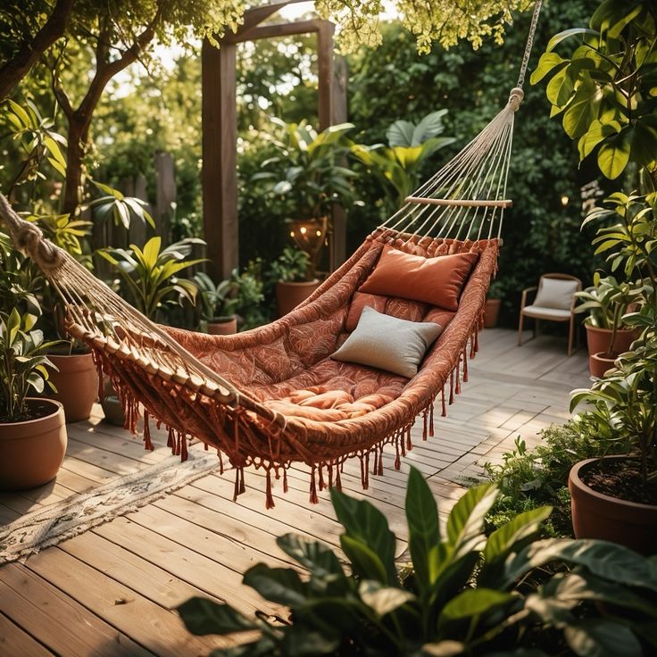
{"type": "MultiPolygon", "coordinates": [[[[518,86],[495,119],[451,162],[376,229],[337,271],[293,312],[234,336],[165,328],[148,320],[96,279],[39,229],[21,220],[0,195],[0,214],[15,245],[37,262],[62,296],[67,330],[92,350],[99,374],[109,377],[133,433],[143,410],[143,439],[153,449],[150,421],[169,430],[173,453],[187,458],[187,439],[212,446],[236,470],[235,496],[245,489],[244,469],[266,472],[266,505],[274,505],[272,478],[292,462],[311,467],[310,498],[340,487],[346,459],[361,460],[362,486],[371,471],[383,474],[384,445],[395,446],[395,468],[411,449],[419,414],[423,438],[433,436],[434,405],[447,403],[468,380],[468,357],[478,350],[478,329],[501,245],[514,114],[522,100],[540,0],[536,3],[518,86]],[[433,257],[472,252],[478,262],[456,312],[420,302],[358,292],[385,245],[433,257]],[[364,304],[409,320],[445,328],[418,374],[406,379],[330,358],[353,330],[364,304]]],[[[102,376],[101,388],[103,387],[102,376]]],[[[102,395],[102,390],[100,391],[102,395]]]]}

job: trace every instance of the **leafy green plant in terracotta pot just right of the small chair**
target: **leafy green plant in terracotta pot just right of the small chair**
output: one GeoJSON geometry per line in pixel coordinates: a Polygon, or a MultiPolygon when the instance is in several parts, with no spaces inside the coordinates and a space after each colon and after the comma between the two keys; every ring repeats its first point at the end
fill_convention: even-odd
{"type": "Polygon", "coordinates": [[[613,276],[601,278],[595,272],[594,285],[575,293],[581,300],[575,312],[588,312],[584,326],[589,370],[594,376],[602,377],[638,337],[639,331],[626,326],[623,317],[631,304],[641,301],[643,292],[643,285],[619,283],[613,276]]]}

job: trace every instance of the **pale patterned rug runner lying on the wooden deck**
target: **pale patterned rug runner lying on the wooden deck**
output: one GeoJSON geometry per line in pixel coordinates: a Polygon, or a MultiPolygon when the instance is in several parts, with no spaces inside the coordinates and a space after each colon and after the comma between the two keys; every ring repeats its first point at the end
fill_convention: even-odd
{"type": "Polygon", "coordinates": [[[113,479],[89,493],[71,495],[0,528],[0,565],[77,536],[87,529],[153,502],[219,468],[217,454],[190,452],[113,479]]]}

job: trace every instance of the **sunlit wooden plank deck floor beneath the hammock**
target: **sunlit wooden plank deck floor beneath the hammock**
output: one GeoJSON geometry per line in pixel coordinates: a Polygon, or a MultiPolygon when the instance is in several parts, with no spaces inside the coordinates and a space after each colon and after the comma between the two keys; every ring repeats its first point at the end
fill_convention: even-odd
{"type": "MultiPolygon", "coordinates": [[[[365,495],[387,514],[405,548],[403,495],[408,464],[419,468],[447,511],[464,490],[462,478],[481,464],[499,460],[517,436],[536,444],[536,432],[569,417],[569,391],[588,385],[586,355],[566,357],[565,341],[538,337],[522,347],[515,333],[488,329],[470,362],[470,382],[436,421],[436,437],[421,442],[393,469],[387,453],[385,476],[370,477],[362,491],[359,463],[345,468],[343,487],[365,495]]],[[[70,495],[177,459],[154,436],[156,449],[100,415],[69,425],[69,448],[56,481],[22,494],[0,495],[0,522],[44,508],[70,495]]],[[[193,449],[198,447],[193,447],[193,449]]],[[[275,611],[241,584],[242,573],[258,561],[283,565],[287,557],[275,538],[294,531],[338,545],[339,526],[328,494],[308,503],[304,469],[292,470],[287,495],[264,508],[264,479],[247,472],[245,495],[232,502],[233,475],[197,479],[138,511],[108,521],[25,563],[0,568],[0,657],[37,655],[196,655],[220,645],[216,637],[189,636],[175,611],[191,595],[229,601],[246,613],[275,611]]],[[[275,491],[276,493],[276,491],[275,491]]]]}

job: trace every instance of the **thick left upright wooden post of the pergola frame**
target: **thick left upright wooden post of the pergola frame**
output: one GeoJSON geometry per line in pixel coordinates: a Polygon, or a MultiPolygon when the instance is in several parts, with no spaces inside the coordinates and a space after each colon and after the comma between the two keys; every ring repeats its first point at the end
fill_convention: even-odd
{"type": "Polygon", "coordinates": [[[202,48],[203,220],[208,270],[227,279],[238,265],[236,46],[202,48]]]}

